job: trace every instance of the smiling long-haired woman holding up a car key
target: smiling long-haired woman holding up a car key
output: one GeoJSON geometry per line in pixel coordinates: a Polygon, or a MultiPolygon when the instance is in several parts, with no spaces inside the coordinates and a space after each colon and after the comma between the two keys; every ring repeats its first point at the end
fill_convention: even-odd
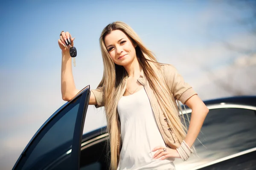
{"type": "MultiPolygon", "coordinates": [[[[72,75],[65,41],[74,38],[61,32],[61,93],[68,101],[79,90],[72,75]]],[[[175,169],[173,161],[186,161],[208,108],[177,70],[157,62],[138,35],[125,23],[106,26],[100,37],[104,63],[102,81],[90,95],[90,105],[105,107],[112,170],[175,169]],[[176,99],[192,109],[189,129],[183,126],[176,99]]]]}

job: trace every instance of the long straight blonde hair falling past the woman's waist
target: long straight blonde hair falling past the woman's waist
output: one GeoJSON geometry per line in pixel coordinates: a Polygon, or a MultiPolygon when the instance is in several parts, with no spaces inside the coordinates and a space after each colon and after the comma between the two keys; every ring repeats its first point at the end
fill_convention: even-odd
{"type": "MultiPolygon", "coordinates": [[[[166,84],[165,77],[160,70],[161,63],[157,62],[154,54],[148,50],[140,40],[139,36],[127,24],[116,21],[106,26],[99,39],[104,64],[104,72],[98,87],[103,87],[105,113],[107,118],[107,129],[109,133],[109,144],[111,152],[110,168],[116,170],[118,165],[117,144],[121,142],[120,138],[120,122],[117,113],[117,103],[123,95],[125,83],[124,79],[128,77],[123,66],[116,65],[108,54],[105,46],[105,36],[113,30],[124,32],[131,41],[136,44],[136,55],[138,62],[143,68],[145,78],[148,80],[150,87],[154,91],[154,95],[163,111],[163,114],[171,121],[169,124],[173,129],[178,141],[181,143],[186,136],[187,128],[181,123],[179,113],[175,103],[171,99],[171,91],[166,84]]],[[[184,118],[184,117],[183,117],[184,118]]]]}

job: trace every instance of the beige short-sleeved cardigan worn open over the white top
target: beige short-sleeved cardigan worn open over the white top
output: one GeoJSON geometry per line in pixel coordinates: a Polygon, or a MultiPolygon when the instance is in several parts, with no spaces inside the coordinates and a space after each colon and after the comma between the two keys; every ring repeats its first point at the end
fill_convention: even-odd
{"type": "MultiPolygon", "coordinates": [[[[185,104],[185,102],[193,95],[196,95],[197,93],[193,90],[193,88],[184,81],[183,77],[178,74],[176,68],[174,68],[171,65],[162,65],[161,69],[165,75],[167,85],[169,86],[169,89],[172,92],[171,99],[176,105],[176,99],[185,104]]],[[[161,108],[158,105],[157,99],[154,96],[154,91],[150,88],[147,79],[144,76],[143,71],[140,74],[140,77],[137,79],[145,88],[145,91],[148,95],[149,101],[151,103],[151,108],[154,112],[154,116],[156,118],[157,126],[160,130],[160,133],[163,137],[163,140],[166,144],[166,147],[171,147],[173,149],[176,149],[180,146],[180,143],[178,142],[176,136],[174,133],[172,133],[172,129],[169,128],[168,123],[170,122],[167,120],[167,118],[161,114],[161,108]]],[[[97,88],[96,90],[91,90],[96,98],[96,108],[104,106],[104,99],[103,94],[101,91],[102,88],[97,88]]],[[[178,110],[178,107],[176,107],[178,110]]],[[[120,123],[120,122],[119,122],[120,123]]],[[[119,130],[120,131],[120,130],[119,130]]],[[[118,139],[120,139],[120,134],[118,136],[118,139]]],[[[119,144],[120,140],[117,142],[117,158],[119,160],[119,153],[121,151],[121,145],[119,144]]]]}

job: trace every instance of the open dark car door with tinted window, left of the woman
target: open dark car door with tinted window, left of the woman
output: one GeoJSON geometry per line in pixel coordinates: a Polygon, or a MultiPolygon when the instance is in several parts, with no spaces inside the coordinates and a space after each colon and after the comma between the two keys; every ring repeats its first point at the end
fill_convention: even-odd
{"type": "Polygon", "coordinates": [[[89,99],[88,85],[41,126],[13,170],[78,170],[89,99]]]}

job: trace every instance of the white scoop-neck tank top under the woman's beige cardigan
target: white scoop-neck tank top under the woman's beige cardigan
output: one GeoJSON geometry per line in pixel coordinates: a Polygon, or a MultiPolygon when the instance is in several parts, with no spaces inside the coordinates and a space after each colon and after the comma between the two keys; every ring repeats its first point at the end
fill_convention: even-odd
{"type": "Polygon", "coordinates": [[[122,96],[117,105],[122,149],[117,170],[175,170],[175,158],[153,159],[157,146],[165,147],[145,89],[122,96]]]}

